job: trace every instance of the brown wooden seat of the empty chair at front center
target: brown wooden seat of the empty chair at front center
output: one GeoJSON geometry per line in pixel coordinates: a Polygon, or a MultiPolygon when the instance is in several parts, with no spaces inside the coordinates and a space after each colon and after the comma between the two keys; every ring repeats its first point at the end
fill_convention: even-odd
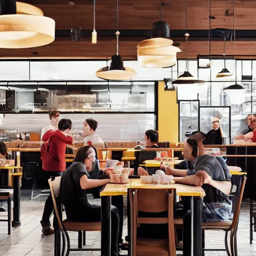
{"type": "Polygon", "coordinates": [[[136,247],[138,255],[169,255],[168,239],[137,237],[136,247]]]}

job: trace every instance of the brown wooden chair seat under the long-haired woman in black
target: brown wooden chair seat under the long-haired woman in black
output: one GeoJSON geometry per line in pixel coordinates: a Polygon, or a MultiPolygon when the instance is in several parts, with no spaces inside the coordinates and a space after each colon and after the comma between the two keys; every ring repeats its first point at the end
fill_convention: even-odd
{"type": "Polygon", "coordinates": [[[100,231],[101,230],[101,222],[78,222],[71,221],[68,219],[63,220],[63,224],[66,230],[70,231],[100,231]]]}

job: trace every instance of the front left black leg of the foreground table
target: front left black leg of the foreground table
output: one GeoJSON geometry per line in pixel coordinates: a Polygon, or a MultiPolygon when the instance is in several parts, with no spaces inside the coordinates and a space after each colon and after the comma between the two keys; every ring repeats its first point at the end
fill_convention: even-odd
{"type": "Polygon", "coordinates": [[[110,256],[111,213],[110,196],[101,196],[101,256],[110,256]]]}

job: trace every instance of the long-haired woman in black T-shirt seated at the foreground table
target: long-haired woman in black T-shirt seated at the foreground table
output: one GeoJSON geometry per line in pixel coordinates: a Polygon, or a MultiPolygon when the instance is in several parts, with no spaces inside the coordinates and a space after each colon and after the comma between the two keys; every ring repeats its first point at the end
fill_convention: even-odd
{"type": "MultiPolygon", "coordinates": [[[[89,172],[95,161],[95,151],[91,146],[80,147],[74,162],[63,173],[60,181],[59,199],[65,206],[66,217],[72,221],[100,221],[101,206],[90,204],[86,190],[105,185],[110,181],[108,175],[101,179],[90,179],[89,172]]],[[[111,205],[111,256],[118,254],[119,215],[116,207],[111,205]]]]}

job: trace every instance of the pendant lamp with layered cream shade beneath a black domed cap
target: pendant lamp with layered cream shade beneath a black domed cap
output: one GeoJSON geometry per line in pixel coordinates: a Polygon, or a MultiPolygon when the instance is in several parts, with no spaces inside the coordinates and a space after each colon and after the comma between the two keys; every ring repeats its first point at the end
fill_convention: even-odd
{"type": "Polygon", "coordinates": [[[181,50],[172,46],[170,27],[162,21],[162,0],[160,0],[160,21],[152,25],[153,38],[141,41],[137,45],[137,59],[143,67],[170,67],[176,64],[176,53],[181,50]]]}

